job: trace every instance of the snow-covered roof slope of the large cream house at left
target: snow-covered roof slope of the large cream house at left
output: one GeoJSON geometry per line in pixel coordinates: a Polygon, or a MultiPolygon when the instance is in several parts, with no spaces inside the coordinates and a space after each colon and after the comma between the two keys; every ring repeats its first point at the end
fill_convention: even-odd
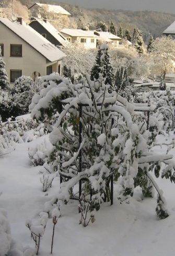
{"type": "Polygon", "coordinates": [[[42,56],[48,59],[50,62],[61,60],[66,55],[57,47],[51,44],[37,31],[26,24],[19,24],[17,22],[11,22],[9,19],[1,18],[0,23],[4,24],[7,28],[13,31],[22,40],[27,42],[32,48],[37,50],[42,56]]]}

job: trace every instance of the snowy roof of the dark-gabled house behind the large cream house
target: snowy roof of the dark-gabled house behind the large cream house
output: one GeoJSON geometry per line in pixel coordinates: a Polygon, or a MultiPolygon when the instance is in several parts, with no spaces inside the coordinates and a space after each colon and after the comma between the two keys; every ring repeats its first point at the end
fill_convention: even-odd
{"type": "Polygon", "coordinates": [[[33,22],[38,22],[62,45],[70,44],[70,42],[64,36],[62,36],[61,33],[47,20],[46,20],[46,22],[44,22],[43,20],[39,20],[36,18],[36,19],[32,20],[31,23],[33,23],[33,22]]]}

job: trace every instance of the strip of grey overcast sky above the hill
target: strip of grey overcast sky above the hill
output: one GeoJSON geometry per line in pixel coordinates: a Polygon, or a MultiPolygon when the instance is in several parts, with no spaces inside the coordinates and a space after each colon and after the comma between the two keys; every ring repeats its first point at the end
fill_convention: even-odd
{"type": "Polygon", "coordinates": [[[85,8],[157,10],[157,12],[175,14],[175,0],[62,0],[60,2],[85,8]]]}

